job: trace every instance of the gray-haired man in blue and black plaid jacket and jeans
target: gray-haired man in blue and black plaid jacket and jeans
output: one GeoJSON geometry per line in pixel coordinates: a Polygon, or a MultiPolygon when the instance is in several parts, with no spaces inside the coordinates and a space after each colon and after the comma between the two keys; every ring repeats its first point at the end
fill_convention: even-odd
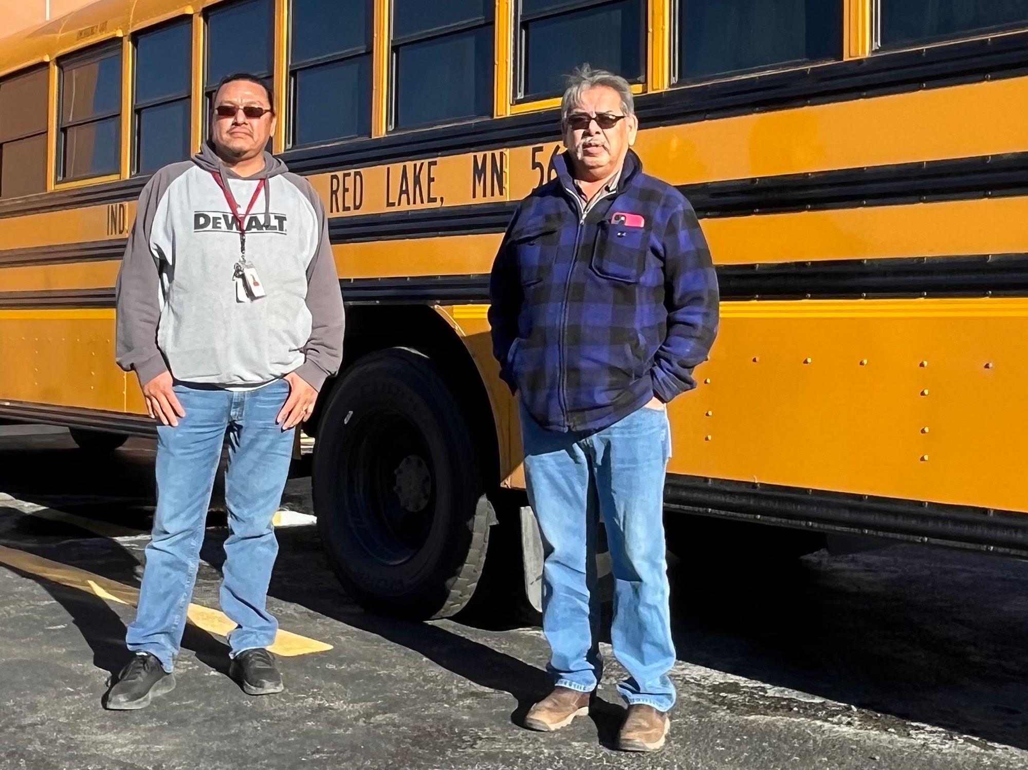
{"type": "Polygon", "coordinates": [[[543,536],[553,691],[525,726],[588,713],[601,677],[598,515],[615,578],[611,641],[628,679],[619,744],[655,750],[674,703],[663,528],[666,405],[695,387],[718,330],[718,281],[689,201],[642,172],[621,77],[588,65],[561,103],[566,152],[525,198],[492,267],[489,322],[517,395],[528,500],[543,536]]]}

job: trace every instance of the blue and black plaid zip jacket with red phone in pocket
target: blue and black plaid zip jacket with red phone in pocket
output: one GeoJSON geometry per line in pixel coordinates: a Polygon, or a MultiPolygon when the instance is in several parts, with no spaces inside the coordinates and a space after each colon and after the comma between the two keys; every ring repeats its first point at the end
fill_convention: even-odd
{"type": "Polygon", "coordinates": [[[718,278],[689,201],[635,153],[584,218],[564,156],[553,163],[492,266],[492,352],[540,425],[599,430],[695,387],[718,332],[718,278]]]}

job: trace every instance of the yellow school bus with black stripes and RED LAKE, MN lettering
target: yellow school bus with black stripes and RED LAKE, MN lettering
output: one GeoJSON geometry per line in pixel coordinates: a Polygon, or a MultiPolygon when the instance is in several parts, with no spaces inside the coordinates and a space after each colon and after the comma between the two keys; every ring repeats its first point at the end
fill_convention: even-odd
{"type": "Polygon", "coordinates": [[[669,524],[1028,555],[1018,0],[101,0],[0,40],[0,418],[153,432],[113,360],[136,197],[222,75],[266,76],[347,305],[306,426],[326,550],[367,607],[457,611],[531,539],[487,274],[583,62],[633,84],[722,286],[669,524]]]}

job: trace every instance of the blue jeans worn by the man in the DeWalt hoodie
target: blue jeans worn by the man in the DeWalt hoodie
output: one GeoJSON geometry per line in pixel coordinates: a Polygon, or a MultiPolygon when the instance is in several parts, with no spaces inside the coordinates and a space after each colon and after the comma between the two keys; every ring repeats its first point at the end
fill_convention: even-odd
{"type": "Polygon", "coordinates": [[[289,396],[285,380],[238,392],[176,384],[175,394],[186,416],[178,427],[157,427],[157,509],[139,609],[125,638],[130,650],[152,653],[167,671],[185,630],[226,431],[230,534],[221,609],[236,624],[228,636],[230,654],[274,641],[279,623],[265,608],[279,553],[271,518],[282,502],[293,450],[293,430],[274,422],[289,396]]]}

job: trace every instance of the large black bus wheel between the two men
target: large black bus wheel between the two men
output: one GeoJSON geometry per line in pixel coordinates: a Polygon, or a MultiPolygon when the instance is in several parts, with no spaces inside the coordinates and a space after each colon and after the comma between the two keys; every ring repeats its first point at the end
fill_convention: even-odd
{"type": "Polygon", "coordinates": [[[465,415],[426,355],[391,348],[345,373],[313,476],[329,563],[362,607],[427,619],[468,603],[494,515],[465,415]]]}

